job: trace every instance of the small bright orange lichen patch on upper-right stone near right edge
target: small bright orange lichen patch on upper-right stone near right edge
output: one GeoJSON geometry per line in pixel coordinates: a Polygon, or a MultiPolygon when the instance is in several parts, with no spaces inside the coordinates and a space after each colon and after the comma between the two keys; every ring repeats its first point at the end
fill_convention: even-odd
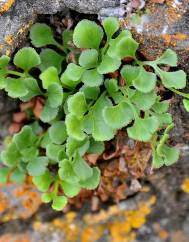
{"type": "Polygon", "coordinates": [[[161,37],[167,46],[176,46],[179,41],[184,41],[188,38],[184,33],[176,33],[173,35],[162,34],[161,37]]]}

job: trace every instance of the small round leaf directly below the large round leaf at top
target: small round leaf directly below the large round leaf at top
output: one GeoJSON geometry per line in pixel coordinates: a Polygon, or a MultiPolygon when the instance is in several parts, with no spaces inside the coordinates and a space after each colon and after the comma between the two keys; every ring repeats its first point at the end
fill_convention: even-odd
{"type": "Polygon", "coordinates": [[[98,62],[98,51],[95,49],[83,50],[79,57],[79,64],[87,69],[94,68],[98,62]]]}

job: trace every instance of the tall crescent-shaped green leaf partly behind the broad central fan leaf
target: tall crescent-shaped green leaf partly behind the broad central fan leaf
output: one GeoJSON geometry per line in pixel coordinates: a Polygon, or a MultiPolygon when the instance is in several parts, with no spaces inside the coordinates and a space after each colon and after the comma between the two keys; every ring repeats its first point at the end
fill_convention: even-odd
{"type": "Polygon", "coordinates": [[[92,136],[96,141],[111,140],[114,137],[115,130],[109,127],[103,118],[103,109],[111,105],[111,101],[102,95],[89,114],[92,119],[92,136]]]}

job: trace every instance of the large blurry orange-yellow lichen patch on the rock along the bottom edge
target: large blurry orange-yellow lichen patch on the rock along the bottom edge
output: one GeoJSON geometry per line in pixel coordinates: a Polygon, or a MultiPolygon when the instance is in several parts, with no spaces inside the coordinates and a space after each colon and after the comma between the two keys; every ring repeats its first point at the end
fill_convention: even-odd
{"type": "Polygon", "coordinates": [[[69,242],[131,242],[137,236],[151,213],[156,197],[151,196],[146,201],[136,202],[131,207],[110,206],[108,210],[86,214],[83,218],[75,212],[68,212],[64,218],[58,218],[51,223],[37,221],[33,223],[34,231],[46,234],[48,231],[58,233],[62,241],[69,242]]]}

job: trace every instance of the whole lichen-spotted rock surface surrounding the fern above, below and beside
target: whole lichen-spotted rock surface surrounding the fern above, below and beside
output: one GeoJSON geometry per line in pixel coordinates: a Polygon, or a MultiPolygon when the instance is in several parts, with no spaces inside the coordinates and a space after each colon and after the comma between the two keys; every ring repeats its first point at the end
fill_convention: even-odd
{"type": "MultiPolygon", "coordinates": [[[[126,3],[120,5],[113,0],[0,0],[0,53],[11,54],[25,39],[39,14],[66,12],[71,8],[84,13],[98,13],[100,17],[111,15],[112,10],[123,15],[126,3]]],[[[140,13],[130,11],[124,18],[122,16],[122,23],[132,29],[140,41],[143,55],[154,59],[165,48],[173,48],[179,54],[181,67],[189,73],[189,1],[149,0],[140,13]]],[[[46,206],[38,210],[39,194],[28,185],[0,187],[0,242],[59,242],[63,239],[67,242],[188,242],[189,183],[185,181],[189,180],[189,114],[183,111],[179,100],[171,108],[176,123],[172,137],[181,149],[182,158],[173,167],[164,167],[144,179],[143,187],[147,184],[148,188],[143,192],[116,206],[108,208],[105,204],[105,210],[93,215],[86,214],[87,210],[82,208],[78,214],[69,212],[64,216],[46,206]],[[21,196],[15,197],[15,194],[21,196]],[[151,197],[154,200],[150,200],[151,197]],[[141,211],[144,216],[140,216],[141,211]],[[131,214],[136,215],[135,219],[131,214]],[[95,223],[95,219],[101,223],[95,223]],[[87,221],[94,222],[89,224],[87,221]]],[[[0,123],[7,125],[7,115],[16,109],[16,103],[10,103],[3,93],[0,94],[0,103],[0,113],[6,113],[1,115],[0,123]]],[[[5,132],[4,128],[0,129],[1,136],[5,132]]]]}

